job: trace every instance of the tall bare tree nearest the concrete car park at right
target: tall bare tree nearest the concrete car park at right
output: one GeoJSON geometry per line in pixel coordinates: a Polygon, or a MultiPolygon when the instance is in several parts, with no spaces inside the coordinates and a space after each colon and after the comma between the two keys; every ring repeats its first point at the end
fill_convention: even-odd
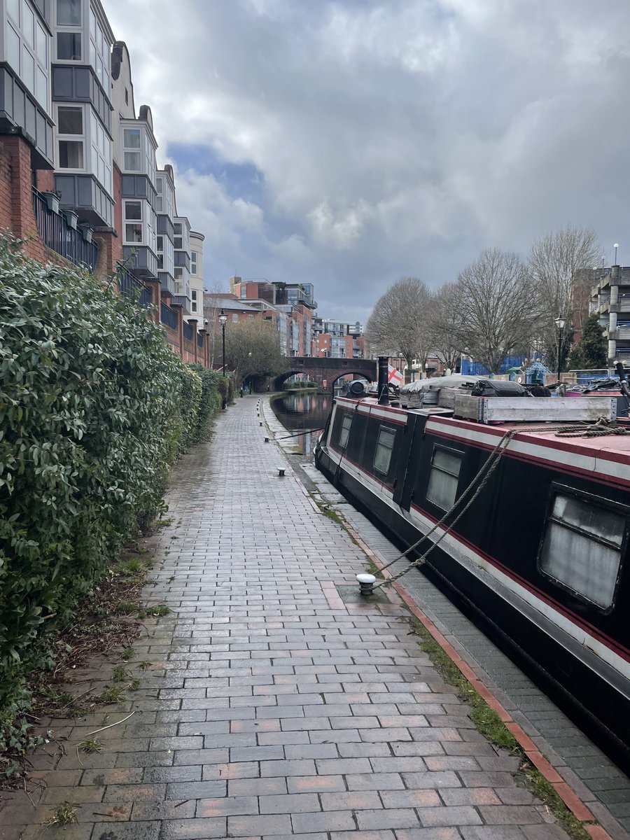
{"type": "Polygon", "coordinates": [[[588,316],[591,269],[600,254],[595,231],[571,225],[546,234],[529,251],[529,272],[543,313],[538,341],[545,348],[548,366],[554,370],[558,368],[558,330],[554,319],[559,315],[567,319],[565,336],[582,328],[588,316]]]}

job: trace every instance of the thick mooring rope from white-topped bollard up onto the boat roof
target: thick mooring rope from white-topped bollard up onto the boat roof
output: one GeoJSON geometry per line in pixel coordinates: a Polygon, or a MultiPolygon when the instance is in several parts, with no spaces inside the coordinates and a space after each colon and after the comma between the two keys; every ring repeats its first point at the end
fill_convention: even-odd
{"type": "Polygon", "coordinates": [[[480,492],[484,489],[486,484],[491,478],[491,475],[496,470],[496,467],[499,465],[501,460],[501,456],[507,450],[512,438],[515,435],[520,434],[522,432],[554,432],[556,437],[564,437],[564,438],[595,438],[601,437],[607,434],[630,434],[630,430],[627,428],[622,428],[617,426],[614,420],[607,420],[606,417],[600,417],[596,423],[585,424],[585,423],[572,423],[569,427],[564,424],[563,426],[547,426],[541,428],[540,426],[533,427],[533,428],[512,428],[508,429],[508,431],[502,436],[499,440],[496,447],[492,450],[490,456],[486,460],[486,462],[481,465],[480,470],[475,475],[475,478],[470,482],[469,486],[466,487],[465,491],[459,496],[455,501],[453,507],[450,508],[444,514],[439,522],[436,522],[426,534],[423,535],[420,539],[417,540],[416,543],[413,543],[409,546],[408,549],[399,554],[395,559],[391,560],[389,563],[381,566],[381,570],[388,569],[391,565],[397,563],[399,560],[402,560],[404,557],[407,557],[409,552],[417,549],[417,547],[423,543],[425,539],[431,537],[433,533],[435,533],[438,528],[444,525],[444,522],[459,508],[463,501],[470,496],[470,493],[475,488],[476,483],[479,481],[479,486],[477,486],[475,492],[470,496],[470,499],[466,501],[465,507],[463,507],[454,518],[453,522],[444,528],[444,531],[439,535],[439,537],[428,547],[428,549],[424,552],[421,557],[413,560],[412,563],[408,564],[407,567],[396,575],[392,575],[387,580],[381,580],[379,583],[375,583],[374,588],[379,589],[381,586],[385,586],[391,583],[394,583],[395,580],[402,578],[403,575],[407,575],[407,572],[412,569],[417,569],[419,566],[426,563],[428,555],[431,554],[433,549],[437,548],[439,543],[453,530],[455,525],[459,522],[461,517],[464,516],[465,512],[470,508],[473,504],[477,496],[480,495],[480,492]]]}

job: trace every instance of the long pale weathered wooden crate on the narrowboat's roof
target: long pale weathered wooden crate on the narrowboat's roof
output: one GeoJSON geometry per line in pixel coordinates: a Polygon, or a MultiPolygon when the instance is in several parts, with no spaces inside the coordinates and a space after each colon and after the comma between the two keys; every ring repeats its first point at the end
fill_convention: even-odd
{"type": "MultiPolygon", "coordinates": [[[[441,403],[440,403],[441,404],[441,403]]],[[[458,394],[454,416],[477,423],[595,423],[617,417],[617,399],[610,396],[524,397],[458,394]]]]}

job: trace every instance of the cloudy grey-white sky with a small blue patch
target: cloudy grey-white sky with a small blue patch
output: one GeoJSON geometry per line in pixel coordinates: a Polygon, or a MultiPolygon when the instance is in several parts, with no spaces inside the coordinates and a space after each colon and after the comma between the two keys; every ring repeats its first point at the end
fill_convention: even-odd
{"type": "Polygon", "coordinates": [[[103,0],[205,286],[365,323],[571,223],[630,265],[630,0],[103,0]]]}

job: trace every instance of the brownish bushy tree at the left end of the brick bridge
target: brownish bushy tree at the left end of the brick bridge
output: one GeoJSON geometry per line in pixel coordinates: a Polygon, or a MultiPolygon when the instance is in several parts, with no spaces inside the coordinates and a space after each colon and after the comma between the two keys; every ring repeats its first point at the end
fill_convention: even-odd
{"type": "Polygon", "coordinates": [[[288,360],[280,352],[280,336],[273,324],[262,318],[246,318],[225,328],[225,364],[234,370],[240,387],[246,376],[264,378],[286,370],[288,360]]]}

